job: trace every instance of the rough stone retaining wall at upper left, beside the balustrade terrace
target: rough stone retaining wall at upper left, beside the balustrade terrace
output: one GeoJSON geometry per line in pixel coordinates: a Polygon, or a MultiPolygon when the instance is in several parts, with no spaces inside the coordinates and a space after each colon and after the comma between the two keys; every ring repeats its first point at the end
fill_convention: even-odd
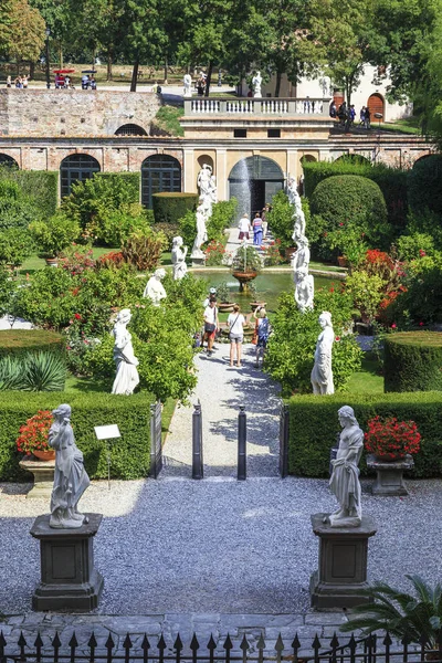
{"type": "Polygon", "coordinates": [[[160,105],[148,92],[0,90],[0,136],[113,136],[127,124],[149,135],[160,105]]]}

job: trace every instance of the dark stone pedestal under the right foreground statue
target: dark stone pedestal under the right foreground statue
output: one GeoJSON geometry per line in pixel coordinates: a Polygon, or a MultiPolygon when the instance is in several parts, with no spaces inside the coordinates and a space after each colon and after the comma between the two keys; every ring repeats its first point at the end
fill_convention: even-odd
{"type": "Polygon", "coordinates": [[[358,527],[332,527],[329,514],[312,515],[313,532],[319,537],[318,570],[311,577],[312,607],[336,610],[367,603],[361,594],[367,583],[368,539],[376,534],[375,522],[362,516],[358,527]]]}

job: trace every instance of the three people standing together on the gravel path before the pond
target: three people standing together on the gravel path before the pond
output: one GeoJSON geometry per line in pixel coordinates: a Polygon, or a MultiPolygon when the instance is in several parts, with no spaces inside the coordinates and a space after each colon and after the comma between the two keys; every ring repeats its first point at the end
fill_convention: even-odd
{"type": "MultiPolygon", "coordinates": [[[[267,317],[267,313],[263,306],[259,306],[253,312],[253,318],[255,320],[255,328],[252,343],[256,346],[255,352],[255,368],[260,368],[263,365],[264,352],[267,347],[269,337],[271,334],[271,325],[267,317]]],[[[233,305],[233,312],[228,317],[228,329],[230,340],[230,356],[229,362],[233,367],[236,362],[236,367],[241,368],[242,359],[242,344],[244,343],[244,326],[246,319],[241,313],[240,305],[233,305]]],[[[217,288],[211,287],[209,291],[209,297],[204,302],[204,333],[202,337],[202,347],[207,343],[207,354],[209,357],[213,355],[215,349],[213,346],[217,333],[220,330],[220,320],[218,317],[217,306],[217,288]]]]}

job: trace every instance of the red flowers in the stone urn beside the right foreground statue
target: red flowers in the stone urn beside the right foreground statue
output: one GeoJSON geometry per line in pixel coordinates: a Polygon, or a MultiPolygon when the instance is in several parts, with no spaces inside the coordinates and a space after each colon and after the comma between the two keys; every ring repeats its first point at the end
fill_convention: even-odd
{"type": "Polygon", "coordinates": [[[421,434],[414,421],[398,421],[396,417],[373,417],[368,421],[365,446],[369,453],[394,460],[407,453],[418,453],[421,434]]]}

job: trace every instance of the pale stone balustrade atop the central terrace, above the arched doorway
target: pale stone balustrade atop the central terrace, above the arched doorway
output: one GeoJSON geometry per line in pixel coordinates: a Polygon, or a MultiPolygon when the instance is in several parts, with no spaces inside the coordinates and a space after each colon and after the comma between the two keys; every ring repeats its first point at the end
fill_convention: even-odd
{"type": "Polygon", "coordinates": [[[234,116],[283,116],[283,117],[329,117],[332,99],[319,97],[304,98],[236,98],[197,97],[185,99],[185,115],[234,115],[234,116]]]}

